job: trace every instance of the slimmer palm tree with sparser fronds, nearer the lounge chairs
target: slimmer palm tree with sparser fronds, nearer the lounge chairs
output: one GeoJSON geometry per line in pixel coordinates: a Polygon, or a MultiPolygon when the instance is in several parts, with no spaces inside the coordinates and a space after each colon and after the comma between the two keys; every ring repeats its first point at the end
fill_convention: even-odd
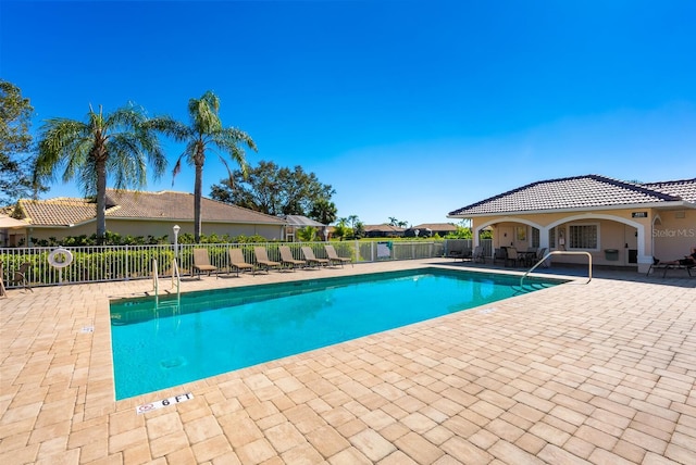
{"type": "MultiPolygon", "coordinates": [[[[188,114],[190,116],[190,126],[175,122],[170,118],[159,118],[154,127],[163,133],[172,136],[178,142],[186,142],[184,153],[182,153],[174,166],[173,176],[176,177],[182,168],[182,159],[185,158],[196,167],[196,180],[194,185],[194,237],[196,242],[200,240],[201,232],[201,211],[200,203],[202,198],[203,185],[203,164],[206,163],[206,153],[211,147],[215,147],[226,152],[231,158],[239,164],[241,174],[247,175],[247,162],[244,149],[239,147],[241,142],[248,148],[257,150],[257,146],[248,134],[234,127],[223,127],[217,112],[220,110],[220,99],[212,91],[207,91],[200,99],[190,99],[188,101],[188,114]]],[[[233,183],[233,175],[225,159],[221,155],[220,160],[227,168],[229,183],[233,183]]],[[[172,183],[173,184],[173,183],[172,183]]]]}

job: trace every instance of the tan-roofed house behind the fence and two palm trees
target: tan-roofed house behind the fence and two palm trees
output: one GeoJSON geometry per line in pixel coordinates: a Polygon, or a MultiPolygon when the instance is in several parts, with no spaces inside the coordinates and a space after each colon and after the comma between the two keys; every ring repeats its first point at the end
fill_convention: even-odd
{"type": "MultiPolygon", "coordinates": [[[[2,246],[29,244],[29,238],[91,236],[97,230],[96,202],[90,199],[22,199],[13,216],[26,226],[18,228],[15,224],[8,230],[7,243],[2,246]]],[[[201,216],[204,235],[259,235],[269,240],[284,237],[283,218],[215,200],[201,199],[201,216]]],[[[166,235],[173,241],[174,225],[181,227],[179,235],[194,234],[194,194],[107,190],[107,230],[135,237],[166,235]]]]}

